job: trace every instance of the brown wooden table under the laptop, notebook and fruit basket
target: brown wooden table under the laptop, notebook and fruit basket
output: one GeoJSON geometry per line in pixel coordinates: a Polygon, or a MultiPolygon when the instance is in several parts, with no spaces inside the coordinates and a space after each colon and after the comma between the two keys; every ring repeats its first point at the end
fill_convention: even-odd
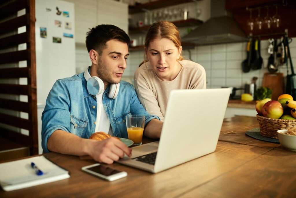
{"type": "Polygon", "coordinates": [[[47,153],[71,172],[69,179],[0,191],[0,197],[295,197],[296,153],[244,134],[255,127],[255,117],[225,119],[214,153],[157,174],[114,163],[109,166],[128,176],[113,182],[81,171],[93,160],[47,153]]]}

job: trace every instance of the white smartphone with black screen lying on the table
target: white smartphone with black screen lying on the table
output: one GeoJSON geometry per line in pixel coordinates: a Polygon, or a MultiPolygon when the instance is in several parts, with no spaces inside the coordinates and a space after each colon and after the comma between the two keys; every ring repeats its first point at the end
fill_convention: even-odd
{"type": "Polygon", "coordinates": [[[82,167],[81,170],[108,181],[117,180],[128,175],[125,171],[115,170],[101,164],[85,166],[82,167]]]}

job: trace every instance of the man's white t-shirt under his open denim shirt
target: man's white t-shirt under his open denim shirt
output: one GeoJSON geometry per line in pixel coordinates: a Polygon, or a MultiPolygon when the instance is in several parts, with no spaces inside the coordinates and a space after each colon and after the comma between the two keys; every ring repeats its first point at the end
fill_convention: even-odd
{"type": "Polygon", "coordinates": [[[94,132],[105,132],[111,136],[114,136],[114,133],[112,131],[112,127],[109,121],[109,118],[106,114],[106,111],[104,109],[104,105],[102,102],[103,94],[99,94],[96,96],[97,101],[97,109],[96,109],[96,129],[94,132]]]}

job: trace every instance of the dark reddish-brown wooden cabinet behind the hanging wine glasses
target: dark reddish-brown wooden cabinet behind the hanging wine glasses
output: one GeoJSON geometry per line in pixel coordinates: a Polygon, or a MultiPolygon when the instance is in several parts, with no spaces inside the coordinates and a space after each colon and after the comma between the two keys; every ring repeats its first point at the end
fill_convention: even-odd
{"type": "MultiPolygon", "coordinates": [[[[225,8],[233,14],[234,19],[247,35],[249,35],[250,33],[252,33],[253,35],[284,33],[285,29],[288,29],[288,36],[296,37],[296,22],[295,20],[293,20],[292,17],[296,16],[296,1],[226,0],[225,8]],[[255,21],[255,19],[258,17],[258,8],[260,8],[261,18],[266,17],[267,7],[269,8],[269,16],[272,17],[273,15],[275,15],[276,12],[275,5],[277,5],[278,7],[278,15],[280,16],[280,26],[278,28],[263,28],[261,30],[254,28],[252,32],[248,30],[247,20],[250,18],[250,11],[246,10],[246,7],[253,9],[252,19],[255,21]]],[[[277,38],[280,38],[282,35],[277,36],[277,38]]],[[[261,39],[268,39],[269,37],[261,36],[261,39]]]]}

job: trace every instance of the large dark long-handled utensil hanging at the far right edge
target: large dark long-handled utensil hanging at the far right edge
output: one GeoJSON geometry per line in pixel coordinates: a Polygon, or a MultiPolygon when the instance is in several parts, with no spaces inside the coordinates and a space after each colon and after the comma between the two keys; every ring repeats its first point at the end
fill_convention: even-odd
{"type": "MultiPolygon", "coordinates": [[[[291,58],[291,54],[290,54],[289,41],[292,42],[292,39],[288,38],[288,37],[285,37],[284,45],[285,45],[285,47],[287,47],[287,52],[288,52],[288,54],[286,54],[286,56],[285,56],[285,59],[286,59],[285,62],[287,63],[286,93],[290,94],[293,98],[296,98],[296,75],[295,75],[295,72],[294,72],[294,67],[293,67],[292,58],[291,58]],[[287,60],[288,57],[289,57],[291,73],[292,73],[290,75],[288,74],[288,72],[289,72],[289,70],[288,70],[288,60],[287,60]]],[[[284,50],[284,52],[286,53],[286,50],[284,50]]]]}

